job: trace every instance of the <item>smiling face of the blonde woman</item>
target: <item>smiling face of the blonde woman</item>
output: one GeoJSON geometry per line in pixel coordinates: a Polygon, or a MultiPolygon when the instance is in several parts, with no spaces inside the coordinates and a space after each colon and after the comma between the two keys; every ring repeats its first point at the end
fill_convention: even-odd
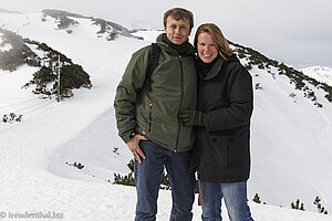
{"type": "Polygon", "coordinates": [[[203,32],[197,38],[197,52],[198,56],[205,63],[210,63],[218,55],[217,45],[215,44],[212,36],[206,32],[203,32]]]}

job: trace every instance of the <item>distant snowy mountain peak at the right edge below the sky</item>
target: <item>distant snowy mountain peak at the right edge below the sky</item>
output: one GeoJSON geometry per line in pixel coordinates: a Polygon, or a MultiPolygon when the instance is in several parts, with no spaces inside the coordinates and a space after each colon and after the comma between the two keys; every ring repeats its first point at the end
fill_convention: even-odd
{"type": "Polygon", "coordinates": [[[301,69],[303,74],[332,86],[332,69],[326,66],[310,66],[301,69]]]}

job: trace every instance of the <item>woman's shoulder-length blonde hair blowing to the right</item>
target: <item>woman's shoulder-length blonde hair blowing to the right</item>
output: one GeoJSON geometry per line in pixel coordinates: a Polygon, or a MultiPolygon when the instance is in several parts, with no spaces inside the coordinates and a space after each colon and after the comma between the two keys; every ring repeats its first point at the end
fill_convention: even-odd
{"type": "Polygon", "coordinates": [[[232,53],[237,51],[237,50],[231,50],[229,48],[228,41],[225,39],[222,32],[214,23],[205,23],[205,24],[201,24],[200,27],[198,27],[196,34],[195,34],[195,40],[194,40],[194,44],[195,44],[196,49],[197,49],[198,35],[200,33],[208,33],[211,35],[211,38],[217,46],[218,53],[225,60],[227,60],[227,59],[225,57],[224,54],[231,56],[232,53]]]}

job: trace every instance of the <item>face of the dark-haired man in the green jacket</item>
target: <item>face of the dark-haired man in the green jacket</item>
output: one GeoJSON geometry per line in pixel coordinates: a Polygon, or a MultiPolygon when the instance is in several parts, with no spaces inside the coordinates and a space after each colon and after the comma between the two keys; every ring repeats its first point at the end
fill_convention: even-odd
{"type": "Polygon", "coordinates": [[[181,44],[190,34],[190,22],[188,19],[176,21],[172,17],[167,17],[165,32],[172,43],[181,44]]]}

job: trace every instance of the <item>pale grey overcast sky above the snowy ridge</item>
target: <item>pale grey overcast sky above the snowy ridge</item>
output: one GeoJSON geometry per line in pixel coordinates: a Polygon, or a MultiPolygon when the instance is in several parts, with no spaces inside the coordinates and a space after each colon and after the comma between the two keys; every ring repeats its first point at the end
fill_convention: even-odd
{"type": "Polygon", "coordinates": [[[0,0],[8,10],[60,9],[154,29],[163,29],[163,14],[174,7],[193,11],[195,29],[214,22],[230,41],[270,59],[332,67],[332,0],[0,0]]]}

